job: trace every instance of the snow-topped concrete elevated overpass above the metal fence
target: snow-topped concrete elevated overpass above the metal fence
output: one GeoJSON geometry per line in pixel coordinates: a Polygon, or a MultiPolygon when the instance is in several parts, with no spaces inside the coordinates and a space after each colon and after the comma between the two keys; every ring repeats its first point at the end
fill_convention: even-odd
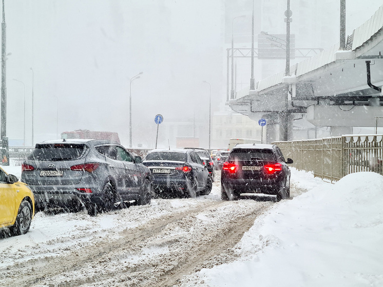
{"type": "Polygon", "coordinates": [[[330,126],[332,136],[352,127],[383,126],[383,6],[347,38],[346,50],[334,45],[235,94],[229,106],[258,121],[267,120],[267,142],[277,140],[279,124],[294,120],[330,126]]]}

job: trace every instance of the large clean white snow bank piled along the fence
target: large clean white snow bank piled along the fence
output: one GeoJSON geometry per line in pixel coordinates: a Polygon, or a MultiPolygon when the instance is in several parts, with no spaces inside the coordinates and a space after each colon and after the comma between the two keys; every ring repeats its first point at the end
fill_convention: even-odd
{"type": "Polygon", "coordinates": [[[382,206],[376,173],[318,185],[256,220],[241,260],[201,270],[198,285],[383,286],[382,206]]]}

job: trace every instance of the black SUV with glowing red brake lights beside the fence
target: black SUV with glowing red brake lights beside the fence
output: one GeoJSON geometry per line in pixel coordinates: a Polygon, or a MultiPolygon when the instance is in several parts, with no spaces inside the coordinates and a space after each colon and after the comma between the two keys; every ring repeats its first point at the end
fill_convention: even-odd
{"type": "Polygon", "coordinates": [[[281,150],[269,144],[238,144],[221,171],[221,198],[235,200],[259,194],[290,197],[290,168],[281,150]]]}

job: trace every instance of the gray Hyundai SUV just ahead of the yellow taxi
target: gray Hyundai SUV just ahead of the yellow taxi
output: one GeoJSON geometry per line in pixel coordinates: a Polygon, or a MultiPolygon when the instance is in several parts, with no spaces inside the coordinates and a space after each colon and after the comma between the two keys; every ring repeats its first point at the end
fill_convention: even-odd
{"type": "Polygon", "coordinates": [[[21,181],[36,211],[85,207],[89,215],[136,202],[150,204],[150,170],[123,146],[107,140],[38,143],[22,164],[21,181]]]}

